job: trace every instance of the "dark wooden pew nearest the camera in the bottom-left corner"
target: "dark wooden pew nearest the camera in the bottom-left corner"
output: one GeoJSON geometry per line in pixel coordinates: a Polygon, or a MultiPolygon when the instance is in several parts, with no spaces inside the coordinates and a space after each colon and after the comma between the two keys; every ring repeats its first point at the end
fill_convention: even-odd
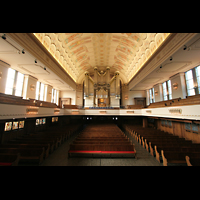
{"type": "Polygon", "coordinates": [[[18,166],[20,154],[0,153],[0,166],[18,166]]]}

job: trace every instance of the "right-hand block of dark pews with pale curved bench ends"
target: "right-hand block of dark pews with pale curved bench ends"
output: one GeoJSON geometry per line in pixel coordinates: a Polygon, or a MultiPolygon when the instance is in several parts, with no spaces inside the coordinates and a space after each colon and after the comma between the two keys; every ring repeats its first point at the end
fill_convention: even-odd
{"type": "Polygon", "coordinates": [[[200,165],[200,144],[153,128],[128,124],[123,128],[163,166],[200,165]]]}

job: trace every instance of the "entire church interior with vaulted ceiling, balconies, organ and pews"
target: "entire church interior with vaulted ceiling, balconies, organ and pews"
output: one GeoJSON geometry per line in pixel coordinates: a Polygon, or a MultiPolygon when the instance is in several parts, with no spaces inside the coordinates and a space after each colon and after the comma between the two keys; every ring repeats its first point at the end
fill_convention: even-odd
{"type": "Polygon", "coordinates": [[[0,166],[198,166],[199,111],[199,33],[0,33],[0,166]]]}

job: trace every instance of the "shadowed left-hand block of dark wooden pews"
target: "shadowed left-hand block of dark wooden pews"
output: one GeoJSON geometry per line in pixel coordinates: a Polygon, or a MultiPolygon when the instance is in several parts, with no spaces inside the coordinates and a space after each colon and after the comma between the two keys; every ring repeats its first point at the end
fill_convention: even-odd
{"type": "Polygon", "coordinates": [[[26,134],[0,144],[0,166],[41,165],[49,154],[80,130],[82,125],[68,125],[35,134],[26,134]]]}

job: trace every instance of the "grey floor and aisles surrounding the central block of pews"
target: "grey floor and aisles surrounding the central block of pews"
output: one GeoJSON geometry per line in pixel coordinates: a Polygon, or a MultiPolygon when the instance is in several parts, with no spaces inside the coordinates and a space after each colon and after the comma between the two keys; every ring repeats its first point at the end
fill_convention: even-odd
{"type": "Polygon", "coordinates": [[[76,138],[76,134],[50,154],[40,166],[163,166],[131,135],[126,134],[135,144],[137,158],[68,158],[69,144],[76,138]]]}

